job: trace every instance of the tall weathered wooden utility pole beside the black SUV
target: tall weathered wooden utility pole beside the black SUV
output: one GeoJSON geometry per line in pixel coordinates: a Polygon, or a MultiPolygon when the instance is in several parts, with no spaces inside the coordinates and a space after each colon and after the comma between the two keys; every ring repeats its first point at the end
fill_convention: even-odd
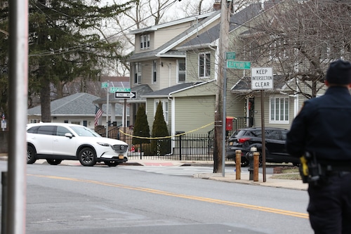
{"type": "MultiPolygon", "coordinates": [[[[223,110],[223,97],[226,90],[227,80],[224,75],[225,52],[229,46],[229,26],[230,26],[230,12],[232,9],[232,1],[221,0],[220,5],[220,37],[219,37],[219,60],[218,60],[218,91],[216,95],[216,112],[215,112],[215,138],[214,138],[214,152],[213,152],[213,173],[223,172],[223,131],[225,128],[225,110],[223,110]]],[[[225,106],[225,105],[224,105],[225,106]]]]}

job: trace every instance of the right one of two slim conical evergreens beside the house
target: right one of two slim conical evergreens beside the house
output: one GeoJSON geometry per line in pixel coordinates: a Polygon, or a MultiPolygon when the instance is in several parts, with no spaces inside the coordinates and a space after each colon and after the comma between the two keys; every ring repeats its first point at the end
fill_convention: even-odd
{"type": "MultiPolygon", "coordinates": [[[[154,117],[154,124],[152,124],[152,138],[160,138],[162,136],[169,136],[169,134],[167,124],[164,121],[162,103],[159,101],[154,117]]],[[[166,155],[171,152],[171,138],[154,139],[151,141],[151,148],[154,155],[166,155]]]]}

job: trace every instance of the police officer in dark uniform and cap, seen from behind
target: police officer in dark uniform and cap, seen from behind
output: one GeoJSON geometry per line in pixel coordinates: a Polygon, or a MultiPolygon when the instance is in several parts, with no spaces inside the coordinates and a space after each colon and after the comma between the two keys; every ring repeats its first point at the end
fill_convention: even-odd
{"type": "Polygon", "coordinates": [[[320,179],[309,183],[307,212],[314,233],[351,233],[351,63],[326,72],[324,96],[305,101],[293,120],[286,149],[315,156],[320,179]]]}

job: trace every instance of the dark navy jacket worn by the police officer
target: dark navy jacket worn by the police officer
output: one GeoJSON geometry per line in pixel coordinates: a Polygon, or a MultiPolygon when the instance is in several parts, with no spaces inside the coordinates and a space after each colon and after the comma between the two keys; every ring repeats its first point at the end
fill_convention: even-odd
{"type": "Polygon", "coordinates": [[[351,162],[351,95],[330,86],[324,96],[306,100],[293,120],[286,150],[294,157],[314,152],[322,161],[351,162]]]}

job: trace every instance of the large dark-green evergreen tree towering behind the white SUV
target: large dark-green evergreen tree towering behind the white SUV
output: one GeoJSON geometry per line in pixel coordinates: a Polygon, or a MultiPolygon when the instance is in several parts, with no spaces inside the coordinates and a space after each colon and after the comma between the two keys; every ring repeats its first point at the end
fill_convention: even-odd
{"type": "MultiPolygon", "coordinates": [[[[123,57],[116,53],[120,42],[103,38],[99,30],[102,22],[124,13],[131,4],[132,1],[105,6],[101,0],[29,1],[28,93],[40,97],[42,121],[51,122],[53,85],[77,77],[97,80],[104,66],[123,57]]],[[[7,13],[8,8],[0,11],[1,29],[8,20],[7,13]]],[[[2,63],[0,59],[0,67],[2,63]]]]}

